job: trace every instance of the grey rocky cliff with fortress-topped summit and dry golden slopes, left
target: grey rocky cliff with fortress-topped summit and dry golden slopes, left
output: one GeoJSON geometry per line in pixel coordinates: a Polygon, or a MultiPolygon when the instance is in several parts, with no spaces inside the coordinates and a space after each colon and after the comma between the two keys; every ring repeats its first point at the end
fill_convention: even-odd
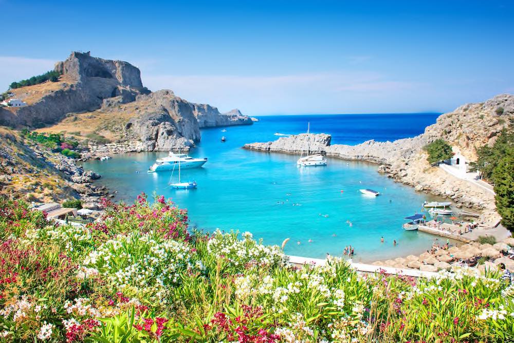
{"type": "Polygon", "coordinates": [[[58,82],[13,89],[28,105],[0,107],[0,125],[103,137],[128,142],[135,151],[168,151],[194,146],[200,128],[252,124],[238,110],[221,114],[166,89],[151,93],[139,69],[127,62],[72,52],[55,70],[62,74],[58,82]]]}

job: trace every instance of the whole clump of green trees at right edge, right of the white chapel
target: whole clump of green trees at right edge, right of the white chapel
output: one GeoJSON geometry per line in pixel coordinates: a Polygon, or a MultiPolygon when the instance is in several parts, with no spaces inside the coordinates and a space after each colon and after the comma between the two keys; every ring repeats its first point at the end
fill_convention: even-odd
{"type": "Polygon", "coordinates": [[[504,128],[492,147],[477,150],[478,159],[471,170],[494,184],[496,207],[502,224],[514,232],[514,120],[504,128]]]}

